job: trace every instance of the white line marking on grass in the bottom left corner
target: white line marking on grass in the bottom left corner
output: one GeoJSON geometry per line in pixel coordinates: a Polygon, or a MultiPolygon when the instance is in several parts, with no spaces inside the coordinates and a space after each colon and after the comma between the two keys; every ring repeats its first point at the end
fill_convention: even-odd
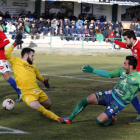
{"type": "Polygon", "coordinates": [[[10,133],[10,134],[29,134],[29,133],[21,131],[21,130],[16,130],[16,129],[3,127],[3,126],[0,126],[0,129],[7,130],[7,131],[0,131],[0,134],[7,134],[7,133],[10,133]]]}

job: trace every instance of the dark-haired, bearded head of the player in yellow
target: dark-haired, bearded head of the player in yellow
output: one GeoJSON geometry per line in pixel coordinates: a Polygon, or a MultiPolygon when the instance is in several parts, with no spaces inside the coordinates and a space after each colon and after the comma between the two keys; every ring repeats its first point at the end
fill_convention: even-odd
{"type": "Polygon", "coordinates": [[[33,63],[35,50],[31,48],[24,48],[21,52],[22,58],[24,58],[29,64],[33,63]]]}

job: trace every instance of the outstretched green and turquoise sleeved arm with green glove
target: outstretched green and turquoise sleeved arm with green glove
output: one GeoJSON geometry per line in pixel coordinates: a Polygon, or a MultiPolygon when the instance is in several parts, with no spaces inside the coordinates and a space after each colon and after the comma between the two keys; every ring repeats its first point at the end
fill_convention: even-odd
{"type": "Polygon", "coordinates": [[[82,71],[87,72],[87,73],[94,73],[94,74],[97,74],[97,75],[103,76],[103,77],[112,77],[113,78],[113,77],[119,77],[120,76],[120,70],[119,69],[114,70],[114,71],[97,70],[97,69],[92,68],[89,65],[84,66],[82,68],[82,71]]]}

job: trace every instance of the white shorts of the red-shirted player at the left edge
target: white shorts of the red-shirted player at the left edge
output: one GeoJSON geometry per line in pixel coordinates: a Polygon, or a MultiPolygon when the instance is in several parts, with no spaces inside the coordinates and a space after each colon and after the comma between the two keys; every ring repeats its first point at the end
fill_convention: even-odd
{"type": "Polygon", "coordinates": [[[7,60],[0,60],[0,73],[5,73],[7,71],[11,71],[7,60]]]}

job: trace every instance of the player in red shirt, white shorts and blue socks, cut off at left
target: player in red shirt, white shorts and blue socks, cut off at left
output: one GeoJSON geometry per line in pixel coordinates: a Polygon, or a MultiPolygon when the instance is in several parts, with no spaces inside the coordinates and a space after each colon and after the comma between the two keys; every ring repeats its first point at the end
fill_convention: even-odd
{"type": "Polygon", "coordinates": [[[9,44],[9,40],[6,37],[6,35],[0,31],[0,73],[2,73],[4,79],[16,90],[16,92],[18,93],[18,99],[16,101],[21,101],[20,99],[20,95],[21,95],[21,91],[19,88],[17,88],[17,84],[15,82],[15,80],[10,77],[9,75],[9,71],[11,71],[8,63],[7,63],[7,58],[4,55],[5,52],[5,46],[7,44],[9,44]]]}

